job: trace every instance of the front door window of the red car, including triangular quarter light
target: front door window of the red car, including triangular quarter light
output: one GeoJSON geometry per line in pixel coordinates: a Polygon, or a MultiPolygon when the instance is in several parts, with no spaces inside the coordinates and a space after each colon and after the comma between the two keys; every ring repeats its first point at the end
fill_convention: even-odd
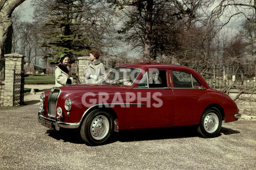
{"type": "Polygon", "coordinates": [[[166,70],[149,70],[139,81],[138,87],[163,88],[167,87],[166,70]]]}

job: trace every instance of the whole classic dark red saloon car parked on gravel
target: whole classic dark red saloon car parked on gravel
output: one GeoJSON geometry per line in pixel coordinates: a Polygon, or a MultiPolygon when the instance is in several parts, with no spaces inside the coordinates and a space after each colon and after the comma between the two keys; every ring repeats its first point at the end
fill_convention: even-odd
{"type": "Polygon", "coordinates": [[[236,103],[210,88],[195,70],[163,63],[126,63],[100,84],[53,87],[40,96],[42,125],[79,129],[88,145],[102,145],[113,131],[198,126],[216,137],[222,121],[241,117],[236,103]]]}

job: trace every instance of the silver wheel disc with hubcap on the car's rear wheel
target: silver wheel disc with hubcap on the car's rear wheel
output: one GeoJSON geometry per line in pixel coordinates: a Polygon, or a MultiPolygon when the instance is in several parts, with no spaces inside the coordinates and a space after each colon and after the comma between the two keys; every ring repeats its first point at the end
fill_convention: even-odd
{"type": "Polygon", "coordinates": [[[218,129],[218,116],[215,113],[208,113],[204,118],[204,129],[208,133],[213,133],[218,129]]]}

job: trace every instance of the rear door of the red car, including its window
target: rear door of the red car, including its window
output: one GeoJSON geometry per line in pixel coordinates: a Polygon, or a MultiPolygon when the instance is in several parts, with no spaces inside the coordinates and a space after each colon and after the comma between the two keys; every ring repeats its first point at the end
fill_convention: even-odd
{"type": "Polygon", "coordinates": [[[196,119],[197,101],[205,94],[199,79],[185,70],[172,70],[174,93],[174,124],[193,124],[196,119]]]}

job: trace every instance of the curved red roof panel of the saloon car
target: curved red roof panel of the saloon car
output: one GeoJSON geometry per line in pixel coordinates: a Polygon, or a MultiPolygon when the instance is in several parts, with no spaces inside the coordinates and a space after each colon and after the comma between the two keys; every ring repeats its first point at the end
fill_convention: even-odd
{"type": "MultiPolygon", "coordinates": [[[[172,65],[167,63],[124,63],[115,67],[131,67],[131,68],[138,68],[138,69],[185,69],[185,70],[193,70],[189,67],[181,66],[181,65],[172,65]]],[[[195,71],[195,70],[193,70],[195,71]]]]}

